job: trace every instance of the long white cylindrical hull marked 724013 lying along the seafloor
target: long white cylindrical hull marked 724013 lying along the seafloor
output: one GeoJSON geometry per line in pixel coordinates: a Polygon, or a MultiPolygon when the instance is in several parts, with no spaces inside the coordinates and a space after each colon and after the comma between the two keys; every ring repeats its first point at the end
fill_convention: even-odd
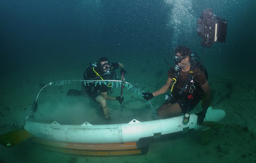
{"type": "MultiPolygon", "coordinates": [[[[85,122],[83,125],[60,125],[26,121],[24,128],[34,137],[67,143],[82,144],[110,144],[137,142],[140,138],[165,135],[184,131],[184,129],[199,130],[207,128],[197,125],[197,116],[190,114],[187,124],[183,123],[183,117],[174,117],[161,120],[140,122],[132,120],[130,123],[91,125],[85,122]]],[[[223,110],[211,108],[206,113],[205,121],[218,122],[225,117],[223,110]]]]}

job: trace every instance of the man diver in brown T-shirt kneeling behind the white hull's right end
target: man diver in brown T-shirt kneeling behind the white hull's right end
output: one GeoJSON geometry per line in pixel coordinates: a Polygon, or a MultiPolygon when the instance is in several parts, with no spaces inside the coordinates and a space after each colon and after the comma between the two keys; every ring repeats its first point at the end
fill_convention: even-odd
{"type": "Polygon", "coordinates": [[[175,66],[169,69],[165,84],[153,93],[143,93],[143,97],[150,100],[171,90],[165,98],[166,102],[157,109],[157,117],[163,119],[184,113],[184,123],[188,123],[189,112],[205,96],[202,111],[196,113],[197,124],[201,125],[212,98],[206,70],[199,61],[194,59],[191,50],[185,46],[175,48],[172,60],[175,66]]]}

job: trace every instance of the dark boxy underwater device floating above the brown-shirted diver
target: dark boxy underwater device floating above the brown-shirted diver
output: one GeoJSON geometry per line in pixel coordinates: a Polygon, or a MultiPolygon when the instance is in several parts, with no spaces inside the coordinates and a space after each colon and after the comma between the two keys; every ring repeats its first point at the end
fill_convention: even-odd
{"type": "Polygon", "coordinates": [[[226,41],[228,21],[213,14],[212,9],[207,8],[197,20],[197,34],[203,38],[202,46],[210,48],[217,41],[226,41]]]}

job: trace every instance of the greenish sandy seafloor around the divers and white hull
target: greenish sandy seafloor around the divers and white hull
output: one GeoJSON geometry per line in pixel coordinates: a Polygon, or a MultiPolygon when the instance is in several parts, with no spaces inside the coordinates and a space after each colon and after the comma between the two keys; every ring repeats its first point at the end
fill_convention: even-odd
{"type": "MultiPolygon", "coordinates": [[[[116,58],[112,61],[119,60],[116,58]]],[[[153,63],[153,60],[146,61],[143,58],[129,60],[129,57],[119,62],[126,64],[127,82],[138,83],[136,86],[142,88],[141,90],[152,92],[160,88],[167,78],[169,66],[163,62],[153,63]]],[[[43,62],[32,66],[23,65],[22,68],[13,68],[12,73],[4,73],[0,91],[1,128],[22,121],[29,114],[33,100],[43,85],[58,80],[82,79],[86,67],[87,63],[83,65],[79,60],[67,64],[43,62]]],[[[144,155],[92,157],[45,151],[36,148],[35,144],[27,140],[12,148],[0,145],[0,162],[255,162],[255,85],[251,80],[235,78],[243,72],[226,70],[220,73],[219,70],[210,69],[208,73],[213,92],[213,109],[224,110],[226,117],[220,121],[225,126],[213,130],[212,140],[206,144],[200,144],[200,131],[195,131],[175,139],[155,139],[151,142],[148,153],[144,155]]],[[[60,124],[82,124],[85,121],[103,123],[98,105],[90,98],[66,96],[68,89],[80,88],[81,83],[71,82],[66,86],[44,89],[38,99],[36,119],[48,122],[56,120],[60,124]]],[[[113,96],[119,95],[120,88],[114,89],[113,96]]],[[[122,105],[117,101],[108,101],[112,122],[152,120],[152,111],[145,102],[135,92],[125,89],[122,105]]],[[[164,95],[152,99],[156,108],[163,102],[164,95]]]]}

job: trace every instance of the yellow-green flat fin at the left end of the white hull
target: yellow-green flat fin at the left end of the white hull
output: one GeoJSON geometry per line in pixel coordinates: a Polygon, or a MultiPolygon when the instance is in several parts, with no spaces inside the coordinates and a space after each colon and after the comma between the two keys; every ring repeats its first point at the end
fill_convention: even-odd
{"type": "Polygon", "coordinates": [[[33,137],[33,134],[20,128],[0,135],[0,143],[6,147],[13,147],[31,137],[33,137]]]}

